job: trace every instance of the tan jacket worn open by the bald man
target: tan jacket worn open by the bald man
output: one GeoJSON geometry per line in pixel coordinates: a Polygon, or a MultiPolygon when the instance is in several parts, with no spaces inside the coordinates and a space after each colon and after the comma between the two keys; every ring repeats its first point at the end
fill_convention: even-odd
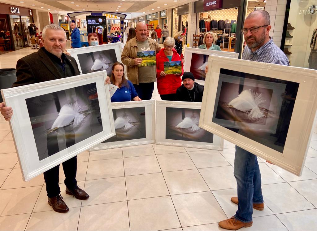
{"type": "MultiPolygon", "coordinates": [[[[155,54],[161,49],[156,41],[147,37],[151,50],[155,50],[155,54]]],[[[121,61],[126,65],[126,74],[133,84],[139,84],[139,67],[134,65],[134,59],[137,58],[138,46],[136,37],[130,39],[123,48],[121,61]]],[[[156,72],[153,73],[156,76],[156,72]]]]}

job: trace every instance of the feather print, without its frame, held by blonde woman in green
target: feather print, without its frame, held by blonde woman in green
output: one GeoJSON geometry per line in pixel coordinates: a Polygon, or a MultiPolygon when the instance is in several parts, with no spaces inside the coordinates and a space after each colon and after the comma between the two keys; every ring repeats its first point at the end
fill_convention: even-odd
{"type": "Polygon", "coordinates": [[[208,55],[192,53],[190,72],[194,74],[196,80],[205,80],[205,68],[208,64],[208,55]]]}

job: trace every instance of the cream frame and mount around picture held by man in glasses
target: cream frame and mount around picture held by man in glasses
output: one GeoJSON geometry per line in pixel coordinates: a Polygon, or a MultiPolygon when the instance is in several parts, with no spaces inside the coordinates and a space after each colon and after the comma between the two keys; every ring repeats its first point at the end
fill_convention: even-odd
{"type": "Polygon", "coordinates": [[[317,109],[317,71],[210,56],[199,126],[281,168],[301,176],[317,109]],[[283,153],[212,122],[220,68],[299,83],[283,153]]]}

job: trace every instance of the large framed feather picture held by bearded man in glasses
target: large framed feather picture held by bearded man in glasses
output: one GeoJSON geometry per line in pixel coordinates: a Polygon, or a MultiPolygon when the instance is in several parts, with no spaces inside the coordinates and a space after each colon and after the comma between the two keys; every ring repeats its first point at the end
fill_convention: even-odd
{"type": "Polygon", "coordinates": [[[300,176],[317,71],[213,55],[208,66],[199,126],[300,176]]]}

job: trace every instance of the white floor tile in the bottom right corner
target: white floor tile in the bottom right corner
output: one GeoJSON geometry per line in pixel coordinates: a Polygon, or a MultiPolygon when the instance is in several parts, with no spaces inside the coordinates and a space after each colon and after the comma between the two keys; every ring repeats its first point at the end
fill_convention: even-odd
{"type": "Polygon", "coordinates": [[[316,230],[317,209],[283,213],[276,215],[281,222],[292,231],[316,230]]]}

